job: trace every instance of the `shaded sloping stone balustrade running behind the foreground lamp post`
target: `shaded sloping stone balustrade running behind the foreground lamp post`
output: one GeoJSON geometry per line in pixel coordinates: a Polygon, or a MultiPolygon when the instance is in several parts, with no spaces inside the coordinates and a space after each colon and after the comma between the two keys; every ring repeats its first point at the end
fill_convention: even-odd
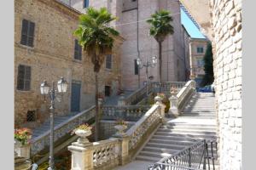
{"type": "MultiPolygon", "coordinates": [[[[95,117],[95,106],[92,106],[88,110],[80,112],[66,122],[62,122],[55,127],[55,141],[60,139],[67,133],[71,132],[75,127],[78,127],[80,124],[89,121],[93,117],[95,117]]],[[[40,150],[44,150],[46,146],[49,146],[49,131],[43,133],[35,139],[32,139],[31,156],[34,156],[40,150]]]]}

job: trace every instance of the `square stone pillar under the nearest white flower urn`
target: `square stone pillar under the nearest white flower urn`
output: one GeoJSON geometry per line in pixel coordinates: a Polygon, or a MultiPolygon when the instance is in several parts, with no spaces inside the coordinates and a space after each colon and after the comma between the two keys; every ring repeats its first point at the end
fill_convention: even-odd
{"type": "Polygon", "coordinates": [[[72,152],[71,170],[93,169],[93,150],[88,144],[74,142],[67,150],[72,152]]]}

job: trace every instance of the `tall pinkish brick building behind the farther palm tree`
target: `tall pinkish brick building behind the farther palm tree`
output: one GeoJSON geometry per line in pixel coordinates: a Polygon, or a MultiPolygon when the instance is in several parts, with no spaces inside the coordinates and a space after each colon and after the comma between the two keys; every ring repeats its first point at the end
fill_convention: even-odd
{"type": "MultiPolygon", "coordinates": [[[[162,48],[162,81],[185,81],[185,59],[183,50],[183,35],[180,19],[179,1],[150,1],[150,0],[61,0],[67,5],[78,9],[82,13],[88,6],[106,7],[118,20],[113,22],[125,38],[121,54],[122,84],[126,90],[134,90],[146,81],[146,69],[137,68],[136,59],[143,62],[151,57],[158,56],[158,43],[154,37],[148,35],[149,25],[146,22],[151,14],[159,9],[170,10],[173,17],[174,34],[166,37],[162,48]]],[[[153,82],[159,81],[158,65],[148,68],[148,77],[153,82]]]]}

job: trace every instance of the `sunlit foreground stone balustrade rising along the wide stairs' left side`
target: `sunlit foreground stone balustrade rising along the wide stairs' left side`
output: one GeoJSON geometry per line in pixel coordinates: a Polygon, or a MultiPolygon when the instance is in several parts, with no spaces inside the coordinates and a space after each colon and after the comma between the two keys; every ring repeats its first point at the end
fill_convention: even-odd
{"type": "Polygon", "coordinates": [[[136,154],[137,150],[148,139],[154,129],[160,126],[164,118],[165,105],[157,98],[153,105],[128,131],[112,138],[79,144],[74,142],[68,146],[72,152],[71,170],[112,169],[118,165],[125,165],[136,154]]]}

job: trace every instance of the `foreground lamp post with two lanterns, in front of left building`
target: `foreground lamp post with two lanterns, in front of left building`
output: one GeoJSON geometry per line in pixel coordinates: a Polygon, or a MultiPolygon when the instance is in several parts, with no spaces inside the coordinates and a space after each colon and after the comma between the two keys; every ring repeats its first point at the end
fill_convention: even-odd
{"type": "Polygon", "coordinates": [[[61,80],[57,82],[57,90],[55,90],[55,82],[52,82],[52,87],[49,89],[49,85],[46,81],[40,85],[41,94],[49,95],[50,107],[49,107],[49,118],[50,118],[50,134],[49,134],[49,167],[48,170],[54,170],[54,111],[55,111],[55,98],[57,94],[64,94],[67,92],[67,81],[61,77],[61,80]]]}

